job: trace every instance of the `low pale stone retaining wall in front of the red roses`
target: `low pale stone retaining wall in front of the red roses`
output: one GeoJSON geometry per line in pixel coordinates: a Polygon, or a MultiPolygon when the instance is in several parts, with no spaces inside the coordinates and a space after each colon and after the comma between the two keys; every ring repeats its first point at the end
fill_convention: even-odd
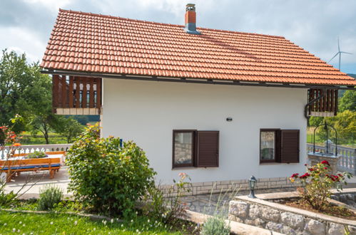
{"type": "Polygon", "coordinates": [[[283,234],[345,234],[347,230],[356,234],[356,221],[247,196],[236,197],[230,202],[229,219],[283,234]]]}

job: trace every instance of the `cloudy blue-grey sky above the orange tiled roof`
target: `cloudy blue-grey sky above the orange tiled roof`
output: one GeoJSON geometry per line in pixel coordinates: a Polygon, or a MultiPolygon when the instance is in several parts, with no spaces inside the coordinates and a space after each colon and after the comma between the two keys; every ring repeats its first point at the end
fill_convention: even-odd
{"type": "MultiPolygon", "coordinates": [[[[193,3],[197,26],[284,36],[330,61],[342,55],[341,71],[356,73],[355,0],[0,0],[0,49],[41,61],[59,8],[145,21],[184,24],[193,3]]],[[[338,57],[330,62],[338,68],[338,57]]]]}

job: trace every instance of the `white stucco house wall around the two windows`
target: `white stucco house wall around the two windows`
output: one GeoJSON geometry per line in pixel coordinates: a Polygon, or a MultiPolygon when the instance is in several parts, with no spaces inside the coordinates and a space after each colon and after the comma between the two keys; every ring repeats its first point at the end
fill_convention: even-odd
{"type": "Polygon", "coordinates": [[[307,90],[103,79],[103,136],[134,140],[162,184],[179,172],[192,182],[286,177],[306,162],[307,90]],[[226,117],[233,117],[227,122],[226,117]],[[299,129],[299,164],[260,164],[261,128],[299,129]],[[172,169],[174,129],[219,130],[217,168],[172,169]]]}

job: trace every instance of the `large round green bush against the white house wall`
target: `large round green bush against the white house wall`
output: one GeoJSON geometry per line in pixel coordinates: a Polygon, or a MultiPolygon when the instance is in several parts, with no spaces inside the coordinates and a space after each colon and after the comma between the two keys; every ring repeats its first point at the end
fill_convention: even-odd
{"type": "Polygon", "coordinates": [[[99,127],[87,127],[67,153],[68,189],[84,207],[109,215],[129,216],[136,202],[154,186],[156,172],[134,142],[99,138],[99,127]]]}

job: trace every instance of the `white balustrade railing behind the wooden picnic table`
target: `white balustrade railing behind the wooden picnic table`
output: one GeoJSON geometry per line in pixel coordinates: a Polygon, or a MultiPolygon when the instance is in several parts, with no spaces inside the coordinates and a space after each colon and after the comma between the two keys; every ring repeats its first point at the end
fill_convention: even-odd
{"type": "MultiPolygon", "coordinates": [[[[16,154],[30,153],[35,151],[41,152],[54,152],[54,151],[67,151],[72,144],[55,144],[55,145],[21,145],[19,150],[16,150],[16,154]]],[[[4,160],[7,152],[9,152],[9,146],[5,146],[4,150],[0,150],[0,160],[4,160]]]]}

